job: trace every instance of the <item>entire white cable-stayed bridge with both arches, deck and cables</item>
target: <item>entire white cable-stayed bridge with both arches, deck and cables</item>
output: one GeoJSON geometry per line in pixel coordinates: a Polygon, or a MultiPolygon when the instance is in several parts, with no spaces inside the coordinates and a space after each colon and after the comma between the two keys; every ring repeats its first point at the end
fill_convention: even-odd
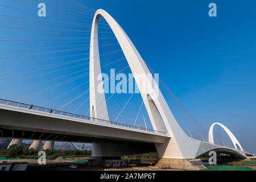
{"type": "MultiPolygon", "coordinates": [[[[231,131],[220,123],[213,123],[210,127],[208,141],[207,137],[203,137],[201,133],[197,133],[201,135],[201,139],[193,137],[191,129],[193,123],[192,127],[183,127],[183,123],[178,122],[183,121],[185,123],[187,120],[179,120],[179,117],[172,112],[176,107],[172,107],[171,109],[170,105],[167,103],[167,97],[163,96],[162,90],[160,90],[158,84],[152,77],[152,69],[146,61],[142,59],[122,27],[104,10],[97,10],[96,12],[93,12],[93,14],[92,29],[90,32],[90,56],[88,58],[89,72],[87,74],[89,75],[89,89],[85,90],[83,93],[79,94],[79,96],[64,105],[67,106],[89,92],[88,99],[90,104],[88,111],[90,112],[90,116],[87,116],[86,114],[76,114],[75,112],[69,113],[67,111],[61,111],[64,106],[60,107],[60,109],[49,109],[47,107],[20,102],[29,97],[36,96],[39,93],[46,92],[47,90],[52,89],[51,87],[36,92],[35,94],[31,94],[28,97],[23,97],[18,101],[1,99],[1,137],[15,138],[13,143],[19,142],[20,139],[32,139],[35,140],[32,144],[34,148],[39,147],[42,140],[48,141],[47,144],[49,148],[52,147],[53,141],[92,143],[92,158],[97,159],[142,154],[145,152],[158,152],[159,165],[167,164],[172,165],[175,168],[183,169],[194,169],[191,160],[212,150],[217,153],[230,154],[238,159],[246,158],[246,152],[243,151],[243,148],[236,137],[234,137],[231,131]],[[110,109],[107,106],[107,101],[112,98],[113,95],[106,100],[106,94],[104,92],[99,92],[98,88],[105,89],[104,84],[106,80],[103,80],[102,78],[102,69],[106,67],[106,65],[112,63],[102,65],[100,57],[117,51],[100,55],[99,40],[101,38],[98,38],[100,32],[98,31],[98,28],[100,28],[99,24],[102,24],[102,22],[100,22],[101,17],[105,19],[110,30],[113,31],[114,38],[121,47],[121,50],[119,51],[122,51],[124,55],[122,59],[127,60],[128,66],[125,68],[130,69],[135,82],[138,85],[142,104],[135,122],[137,121],[142,105],[144,105],[152,129],[117,122],[119,115],[125,109],[136,90],[129,96],[129,100],[124,104],[114,121],[110,121],[109,119],[110,109]],[[137,76],[138,74],[144,75],[143,81],[137,76]],[[227,144],[225,144],[222,141],[223,144],[217,144],[213,136],[214,126],[221,126],[222,129],[226,131],[226,134],[228,134],[232,143],[227,142],[227,144]]],[[[121,59],[113,62],[118,63],[119,60],[121,59]]],[[[121,71],[122,70],[123,69],[121,69],[121,71]]],[[[81,75],[81,77],[84,76],[86,76],[86,73],[81,75]]],[[[7,78],[10,77],[3,79],[7,78]]],[[[76,77],[72,79],[77,80],[75,78],[76,77]]],[[[68,83],[72,79],[63,83],[68,83]]],[[[55,86],[57,88],[60,84],[56,84],[55,86]]],[[[70,92],[70,90],[68,92],[70,92]]],[[[60,96],[64,94],[61,94],[60,96]]],[[[56,98],[59,98],[60,96],[57,96],[56,98]]],[[[174,98],[176,99],[176,97],[174,98]]],[[[87,100],[85,100],[82,105],[87,100]]],[[[77,109],[80,107],[81,106],[77,109]]],[[[77,109],[75,111],[77,111],[77,109]]],[[[45,147],[45,149],[46,148],[47,147],[45,147]]]]}

